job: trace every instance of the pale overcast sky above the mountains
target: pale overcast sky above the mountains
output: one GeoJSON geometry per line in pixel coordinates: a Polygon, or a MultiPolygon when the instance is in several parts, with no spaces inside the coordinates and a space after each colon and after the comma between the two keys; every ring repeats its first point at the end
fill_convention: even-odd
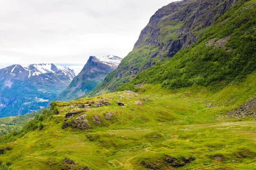
{"type": "Polygon", "coordinates": [[[124,58],[176,0],[0,0],[0,68],[54,63],[76,75],[90,56],[124,58]]]}

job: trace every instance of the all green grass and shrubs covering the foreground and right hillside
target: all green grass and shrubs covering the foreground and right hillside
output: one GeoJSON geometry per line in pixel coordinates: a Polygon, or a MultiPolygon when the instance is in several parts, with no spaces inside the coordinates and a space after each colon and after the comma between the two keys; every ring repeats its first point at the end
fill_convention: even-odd
{"type": "Polygon", "coordinates": [[[256,106],[249,116],[228,112],[256,103],[255,2],[236,3],[167,62],[154,58],[159,48],[135,48],[122,66],[136,61],[136,67],[119,73],[126,74],[122,78],[113,79],[118,72],[111,72],[102,85],[115,90],[145,62],[157,64],[114,93],[99,86],[101,96],[52,102],[21,130],[0,137],[0,167],[254,170],[256,106]],[[94,107],[96,102],[105,105],[94,107]],[[88,103],[90,108],[78,108],[88,103]]]}

